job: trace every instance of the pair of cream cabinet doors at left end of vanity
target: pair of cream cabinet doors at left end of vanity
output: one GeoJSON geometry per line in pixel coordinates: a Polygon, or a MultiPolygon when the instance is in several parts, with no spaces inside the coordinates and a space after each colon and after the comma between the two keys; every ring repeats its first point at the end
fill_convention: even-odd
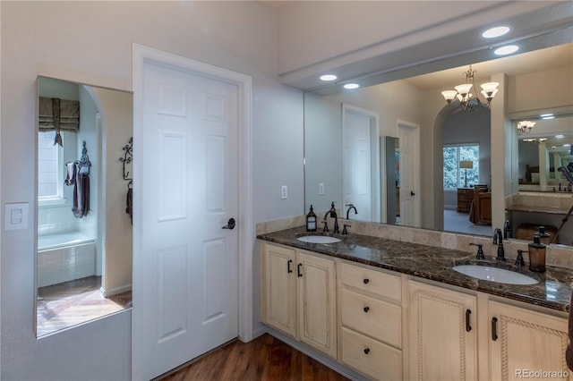
{"type": "Polygon", "coordinates": [[[261,318],[337,358],[334,261],[261,243],[261,318]]]}

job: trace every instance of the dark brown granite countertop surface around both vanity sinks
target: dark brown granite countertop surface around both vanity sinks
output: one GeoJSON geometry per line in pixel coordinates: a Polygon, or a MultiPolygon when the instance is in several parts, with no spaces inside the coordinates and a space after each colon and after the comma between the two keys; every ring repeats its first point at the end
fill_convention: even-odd
{"type": "MultiPolygon", "coordinates": [[[[260,234],[257,238],[549,309],[569,311],[573,271],[567,268],[546,267],[546,272],[534,273],[529,271],[527,265],[521,268],[514,266],[513,260],[496,262],[494,257],[486,257],[486,260],[478,261],[475,260],[474,253],[404,241],[392,241],[355,233],[337,235],[342,241],[328,244],[306,243],[296,239],[304,234],[307,234],[304,227],[297,227],[260,234]],[[530,285],[500,284],[462,275],[451,268],[453,265],[465,264],[506,267],[539,279],[540,282],[530,285]]],[[[526,255],[524,254],[524,257],[526,255]]]]}

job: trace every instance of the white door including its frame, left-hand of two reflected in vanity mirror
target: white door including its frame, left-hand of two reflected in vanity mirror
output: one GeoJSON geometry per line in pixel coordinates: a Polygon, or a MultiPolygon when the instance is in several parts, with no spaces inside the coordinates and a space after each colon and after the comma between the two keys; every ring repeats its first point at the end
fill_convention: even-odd
{"type": "MultiPolygon", "coordinates": [[[[362,221],[377,221],[378,210],[372,199],[372,174],[377,170],[372,165],[378,165],[377,160],[372,160],[372,130],[377,134],[377,116],[367,110],[345,105],[343,108],[343,202],[339,205],[341,213],[346,210],[346,205],[353,204],[358,211],[355,216],[351,212],[352,219],[362,221]],[[376,123],[376,126],[374,126],[376,123]]],[[[376,153],[376,155],[378,155],[376,153]]],[[[346,215],[345,215],[346,216],[346,215]]]]}

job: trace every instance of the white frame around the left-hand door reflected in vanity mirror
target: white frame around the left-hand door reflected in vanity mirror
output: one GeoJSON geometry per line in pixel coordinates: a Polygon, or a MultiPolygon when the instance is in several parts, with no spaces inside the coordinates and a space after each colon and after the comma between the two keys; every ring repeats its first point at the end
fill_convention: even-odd
{"type": "MultiPolygon", "coordinates": [[[[344,157],[346,114],[360,114],[370,119],[370,198],[371,198],[371,222],[381,222],[381,169],[380,169],[380,115],[367,108],[354,106],[348,103],[342,104],[342,157],[344,157]]],[[[344,163],[342,163],[344,168],[344,163]]],[[[342,174],[342,204],[340,212],[345,210],[345,174],[342,174]]]]}

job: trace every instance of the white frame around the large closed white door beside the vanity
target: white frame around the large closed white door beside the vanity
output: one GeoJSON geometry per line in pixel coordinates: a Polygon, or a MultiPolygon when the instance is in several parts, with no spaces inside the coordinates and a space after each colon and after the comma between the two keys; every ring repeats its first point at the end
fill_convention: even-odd
{"type": "MultiPolygon", "coordinates": [[[[151,47],[133,44],[133,141],[142,140],[143,128],[143,66],[144,63],[158,63],[167,67],[176,67],[211,80],[234,84],[238,88],[238,337],[243,342],[252,340],[252,77],[240,72],[232,72],[209,63],[162,52],[151,47]]],[[[145,279],[141,279],[141,219],[138,210],[142,210],[141,193],[137,191],[137,181],[145,175],[142,161],[133,160],[133,309],[132,309],[132,378],[138,379],[141,370],[141,356],[137,356],[141,347],[141,333],[136,332],[140,324],[138,301],[144,298],[138,289],[145,279]]]]}

